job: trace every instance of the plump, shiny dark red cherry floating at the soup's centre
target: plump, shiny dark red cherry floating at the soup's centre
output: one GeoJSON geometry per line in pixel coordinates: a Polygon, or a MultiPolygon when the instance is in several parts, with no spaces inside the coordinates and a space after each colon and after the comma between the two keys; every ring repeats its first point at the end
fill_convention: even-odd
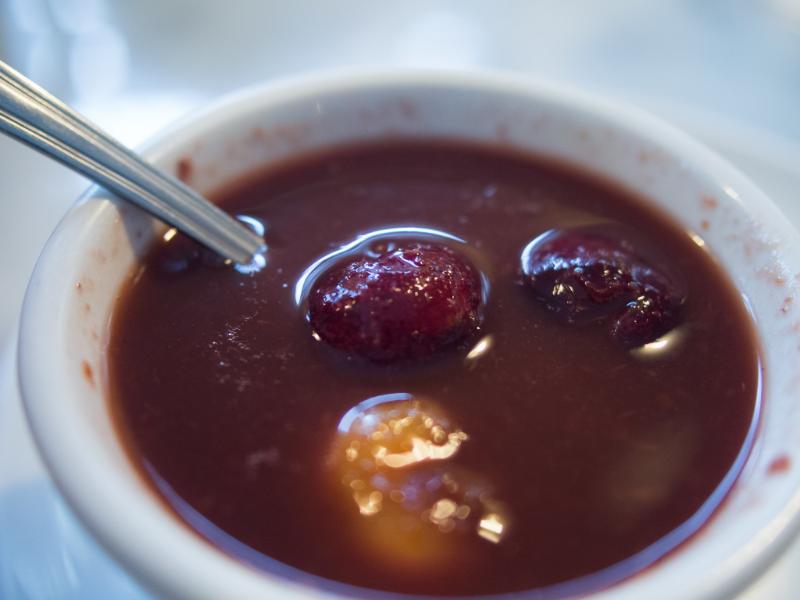
{"type": "Polygon", "coordinates": [[[376,362],[417,358],[477,330],[481,279],[451,248],[406,242],[324,273],[308,302],[311,326],[332,346],[376,362]]]}

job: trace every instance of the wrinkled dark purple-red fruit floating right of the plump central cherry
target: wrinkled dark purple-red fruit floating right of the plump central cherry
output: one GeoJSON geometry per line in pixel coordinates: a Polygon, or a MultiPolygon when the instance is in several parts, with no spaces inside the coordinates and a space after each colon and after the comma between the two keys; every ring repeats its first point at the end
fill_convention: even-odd
{"type": "Polygon", "coordinates": [[[634,348],[679,322],[685,294],[632,246],[595,231],[551,232],[522,255],[525,283],[570,324],[608,322],[611,336],[634,348]]]}

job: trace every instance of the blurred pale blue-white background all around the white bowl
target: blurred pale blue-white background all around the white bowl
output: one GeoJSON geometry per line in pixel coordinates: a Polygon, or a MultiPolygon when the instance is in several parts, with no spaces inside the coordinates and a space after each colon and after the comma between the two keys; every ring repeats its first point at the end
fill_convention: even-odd
{"type": "MultiPolygon", "coordinates": [[[[314,71],[554,80],[687,130],[800,224],[800,0],[0,0],[0,60],[130,145],[229,91],[314,71]]],[[[144,597],[52,491],[16,399],[25,282],[86,186],[0,136],[3,600],[144,597]]],[[[797,566],[793,548],[747,600],[800,597],[797,566]]]]}

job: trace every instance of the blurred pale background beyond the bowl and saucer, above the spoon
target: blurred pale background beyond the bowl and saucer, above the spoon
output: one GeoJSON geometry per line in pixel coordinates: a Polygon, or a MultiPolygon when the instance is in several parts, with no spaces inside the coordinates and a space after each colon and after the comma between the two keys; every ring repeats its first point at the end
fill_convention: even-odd
{"type": "Polygon", "coordinates": [[[274,77],[435,66],[510,70],[680,102],[800,137],[797,0],[3,0],[0,7],[3,59],[123,133],[112,106],[135,125],[157,126],[169,113],[274,77]]]}

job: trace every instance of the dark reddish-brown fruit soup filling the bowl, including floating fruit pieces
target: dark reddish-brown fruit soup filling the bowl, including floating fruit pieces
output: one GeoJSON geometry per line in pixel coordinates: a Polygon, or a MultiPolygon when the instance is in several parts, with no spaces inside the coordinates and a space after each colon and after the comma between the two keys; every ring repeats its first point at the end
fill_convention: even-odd
{"type": "Polygon", "coordinates": [[[264,228],[266,266],[165,239],[109,351],[133,460],[223,551],[362,588],[560,596],[651,564],[733,484],[751,322],[641,199],[506,151],[385,142],[218,200],[264,228]]]}

